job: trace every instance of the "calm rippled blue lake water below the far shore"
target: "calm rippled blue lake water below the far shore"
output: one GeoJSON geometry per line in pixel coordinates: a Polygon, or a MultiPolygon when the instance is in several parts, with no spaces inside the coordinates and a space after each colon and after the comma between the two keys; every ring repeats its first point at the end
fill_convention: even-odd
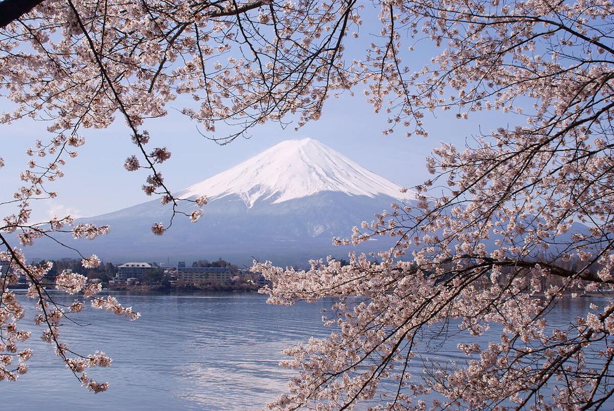
{"type": "MultiPolygon", "coordinates": [[[[57,296],[60,302],[73,300],[57,296]]],[[[15,383],[0,383],[0,409],[261,409],[286,392],[293,375],[278,366],[281,350],[330,333],[322,326],[320,310],[330,308],[332,300],[276,307],[255,293],[118,297],[142,317],[131,322],[90,308],[75,319],[91,325],[61,327],[73,350],[111,356],[110,368],[88,373],[109,381],[109,391],[93,394],[81,387],[52,346],[40,340],[41,329],[29,326],[29,311],[21,327],[28,324],[34,331],[26,343],[34,356],[28,374],[15,383]]],[[[25,297],[19,298],[27,307],[25,297]]],[[[605,299],[565,300],[551,318],[564,322],[585,315],[590,302],[605,299]]],[[[454,358],[457,342],[446,343],[437,355],[454,358]]],[[[613,408],[614,403],[607,407],[613,408]]]]}

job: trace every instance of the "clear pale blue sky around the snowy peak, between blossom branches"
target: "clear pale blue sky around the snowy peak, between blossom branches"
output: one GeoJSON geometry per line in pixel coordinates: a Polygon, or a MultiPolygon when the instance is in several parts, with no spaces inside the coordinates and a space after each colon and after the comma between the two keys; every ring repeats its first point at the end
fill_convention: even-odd
{"type": "MultiPolygon", "coordinates": [[[[358,90],[357,90],[358,91],[358,90]]],[[[0,98],[0,110],[10,107],[0,98]]],[[[175,102],[171,108],[179,108],[175,102]]],[[[452,112],[436,112],[426,119],[429,138],[406,138],[403,128],[383,136],[386,117],[376,115],[364,101],[362,93],[330,99],[321,120],[308,123],[295,131],[282,130],[278,123],[267,123],[252,129],[252,138],[238,138],[227,146],[200,136],[196,123],[170,109],[169,115],[146,123],[152,135],[150,147],[167,146],[173,153],[161,166],[172,190],[179,190],[195,182],[227,170],[252,155],[286,139],[311,137],[348,156],[369,170],[404,186],[414,186],[429,178],[425,159],[439,141],[464,144],[464,139],[482,131],[505,125],[502,114],[484,112],[468,120],[456,119],[452,112]]],[[[2,152],[6,166],[0,170],[3,200],[20,186],[19,173],[28,157],[25,150],[36,139],[49,139],[46,124],[23,119],[10,125],[0,125],[2,152]]],[[[69,159],[64,167],[66,176],[52,183],[58,192],[55,200],[33,203],[34,216],[48,217],[53,213],[72,213],[95,216],[125,208],[151,199],[140,187],[146,173],[129,173],[123,168],[128,155],[136,154],[130,133],[118,117],[106,130],[84,130],[84,146],[79,156],[69,159]]],[[[51,187],[51,186],[50,186],[51,187]]],[[[2,215],[12,212],[3,208],[2,215]]]]}

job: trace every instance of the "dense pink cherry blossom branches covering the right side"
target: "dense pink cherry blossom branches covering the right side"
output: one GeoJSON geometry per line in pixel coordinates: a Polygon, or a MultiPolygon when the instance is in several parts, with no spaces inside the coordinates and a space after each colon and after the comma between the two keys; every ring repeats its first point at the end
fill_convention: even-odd
{"type": "Polygon", "coordinates": [[[548,316],[565,296],[612,289],[612,12],[607,1],[381,4],[389,41],[355,69],[390,113],[385,133],[402,123],[426,135],[422,115],[437,109],[523,121],[465,147],[442,144],[418,202],[335,240],[398,240],[375,259],[255,265],[273,281],[272,303],[339,299],[323,318],[330,337],[286,351],[283,365],[300,372],[271,407],[612,406],[614,300],[562,326],[548,316]],[[441,48],[416,72],[398,55],[408,33],[441,48]],[[474,337],[489,329],[495,340],[474,337]],[[458,345],[466,360],[421,357],[428,335],[472,339],[458,345]]]}

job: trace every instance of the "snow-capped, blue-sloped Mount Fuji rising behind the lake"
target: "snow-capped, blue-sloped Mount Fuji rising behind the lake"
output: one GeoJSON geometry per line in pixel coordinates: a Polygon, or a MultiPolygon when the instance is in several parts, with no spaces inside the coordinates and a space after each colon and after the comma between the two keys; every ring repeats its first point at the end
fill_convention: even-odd
{"type": "MultiPolygon", "coordinates": [[[[155,236],[151,225],[168,221],[170,211],[153,200],[79,219],[109,224],[107,235],[93,241],[63,240],[84,255],[95,253],[115,262],[222,257],[249,265],[253,256],[305,265],[309,258],[343,258],[352,250],[387,248],[391,240],[385,237],[358,249],[333,246],[332,238],[347,238],[354,225],[371,221],[391,203],[411,203],[416,198],[415,192],[403,193],[398,184],[309,138],[283,141],[176,195],[208,197],[198,222],[177,216],[171,229],[155,236]]],[[[41,239],[28,254],[56,259],[68,257],[69,250],[41,239]]]]}

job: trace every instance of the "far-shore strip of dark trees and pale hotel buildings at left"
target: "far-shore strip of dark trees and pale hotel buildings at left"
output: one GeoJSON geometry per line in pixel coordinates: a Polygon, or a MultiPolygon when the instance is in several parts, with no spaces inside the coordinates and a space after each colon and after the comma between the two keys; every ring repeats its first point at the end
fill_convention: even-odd
{"type": "MultiPolygon", "coordinates": [[[[260,273],[239,268],[223,259],[210,262],[197,260],[188,265],[160,262],[131,261],[122,264],[107,262],[96,268],[84,268],[77,259],[51,260],[47,273],[49,283],[61,272],[79,272],[87,276],[88,283],[100,283],[103,289],[125,291],[257,291],[268,281],[260,273]]],[[[36,264],[45,264],[46,260],[36,264]]],[[[0,261],[0,276],[10,270],[7,262],[0,261]]],[[[15,288],[25,288],[20,278],[15,288]]]]}

